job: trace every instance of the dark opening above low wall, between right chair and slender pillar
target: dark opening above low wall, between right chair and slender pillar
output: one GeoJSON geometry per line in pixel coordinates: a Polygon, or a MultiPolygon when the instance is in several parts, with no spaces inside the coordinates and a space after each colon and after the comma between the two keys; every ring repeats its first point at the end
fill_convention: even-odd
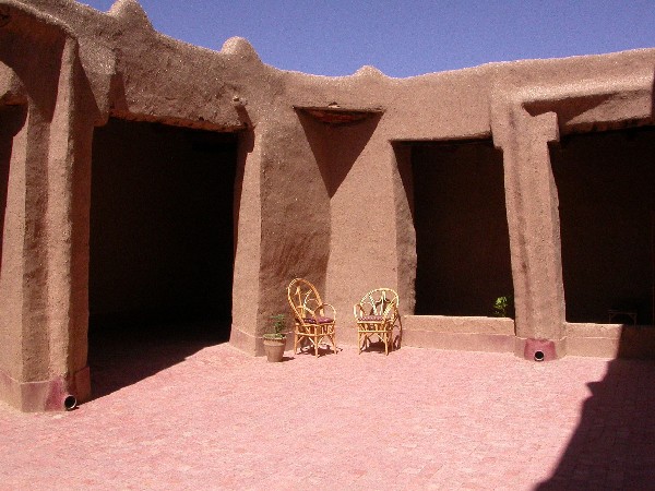
{"type": "Polygon", "coordinates": [[[512,295],[502,153],[490,141],[415,144],[416,314],[483,315],[512,295]]]}

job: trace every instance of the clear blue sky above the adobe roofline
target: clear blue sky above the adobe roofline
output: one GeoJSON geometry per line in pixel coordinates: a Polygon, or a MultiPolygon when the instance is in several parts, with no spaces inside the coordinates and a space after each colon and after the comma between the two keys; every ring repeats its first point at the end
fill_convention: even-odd
{"type": "MultiPolygon", "coordinates": [[[[112,0],[83,0],[107,11],[112,0]]],[[[219,50],[247,38],[273,67],[390,76],[490,61],[655,47],[655,0],[141,0],[155,28],[219,50]]]]}

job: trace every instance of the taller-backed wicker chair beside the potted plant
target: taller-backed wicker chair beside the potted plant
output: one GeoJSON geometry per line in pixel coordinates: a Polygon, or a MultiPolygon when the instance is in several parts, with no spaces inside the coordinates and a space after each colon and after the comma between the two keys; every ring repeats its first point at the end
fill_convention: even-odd
{"type": "Polygon", "coordinates": [[[296,278],[287,288],[287,298],[294,312],[294,352],[298,346],[309,342],[313,346],[314,355],[319,356],[319,345],[326,338],[332,343],[336,354],[334,340],[334,323],[336,310],[330,303],[323,303],[317,288],[307,279],[296,278]]]}

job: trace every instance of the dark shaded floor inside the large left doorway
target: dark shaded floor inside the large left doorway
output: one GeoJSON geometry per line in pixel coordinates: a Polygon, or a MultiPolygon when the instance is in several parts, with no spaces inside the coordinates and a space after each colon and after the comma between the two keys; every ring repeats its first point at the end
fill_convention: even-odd
{"type": "Polygon", "coordinates": [[[124,324],[98,321],[90,328],[93,398],[104,397],[229,339],[229,321],[124,324]],[[98,325],[99,324],[99,325],[98,325]]]}

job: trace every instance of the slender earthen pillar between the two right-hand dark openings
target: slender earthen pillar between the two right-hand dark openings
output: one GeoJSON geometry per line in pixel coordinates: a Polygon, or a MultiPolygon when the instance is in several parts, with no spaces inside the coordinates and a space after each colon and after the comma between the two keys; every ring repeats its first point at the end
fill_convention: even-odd
{"type": "Polygon", "coordinates": [[[493,141],[502,148],[512,275],[515,355],[565,355],[558,196],[548,143],[559,139],[557,115],[531,115],[507,96],[493,108],[493,141]]]}

